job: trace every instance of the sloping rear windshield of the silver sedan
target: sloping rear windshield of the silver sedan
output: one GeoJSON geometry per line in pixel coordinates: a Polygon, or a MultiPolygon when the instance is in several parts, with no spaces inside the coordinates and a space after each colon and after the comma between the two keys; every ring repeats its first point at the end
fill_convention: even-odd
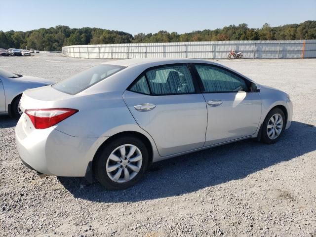
{"type": "Polygon", "coordinates": [[[53,84],[52,87],[61,92],[74,95],[124,68],[118,65],[101,64],[53,84]]]}

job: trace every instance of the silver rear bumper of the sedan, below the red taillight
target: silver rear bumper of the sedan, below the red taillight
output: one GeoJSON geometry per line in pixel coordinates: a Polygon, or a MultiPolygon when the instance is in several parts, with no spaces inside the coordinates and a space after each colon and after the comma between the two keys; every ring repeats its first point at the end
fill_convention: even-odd
{"type": "Polygon", "coordinates": [[[47,175],[84,177],[89,161],[106,138],[73,137],[50,127],[31,129],[23,123],[15,128],[15,140],[22,162],[47,175]]]}

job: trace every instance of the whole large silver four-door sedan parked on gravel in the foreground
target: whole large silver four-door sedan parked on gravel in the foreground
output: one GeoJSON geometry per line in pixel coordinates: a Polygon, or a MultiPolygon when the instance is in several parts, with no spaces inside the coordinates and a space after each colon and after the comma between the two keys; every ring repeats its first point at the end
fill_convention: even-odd
{"type": "Polygon", "coordinates": [[[275,143],[293,113],[285,92],[195,59],[106,62],[24,91],[20,108],[15,138],[27,167],[94,175],[108,189],[134,185],[162,159],[248,138],[275,143]]]}

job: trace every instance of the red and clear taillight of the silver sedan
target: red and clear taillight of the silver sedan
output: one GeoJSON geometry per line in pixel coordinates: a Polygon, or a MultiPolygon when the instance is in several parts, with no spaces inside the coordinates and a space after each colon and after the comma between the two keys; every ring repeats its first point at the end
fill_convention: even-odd
{"type": "Polygon", "coordinates": [[[29,116],[33,125],[37,129],[44,129],[61,122],[62,120],[77,113],[75,109],[36,109],[25,110],[24,113],[29,116]]]}

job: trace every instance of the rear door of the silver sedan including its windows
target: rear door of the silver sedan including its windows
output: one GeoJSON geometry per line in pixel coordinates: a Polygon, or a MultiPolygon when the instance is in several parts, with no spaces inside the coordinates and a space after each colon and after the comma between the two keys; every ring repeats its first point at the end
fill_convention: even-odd
{"type": "Polygon", "coordinates": [[[160,156],[203,147],[206,103],[186,64],[146,70],[123,99],[139,126],[153,137],[160,156]]]}

